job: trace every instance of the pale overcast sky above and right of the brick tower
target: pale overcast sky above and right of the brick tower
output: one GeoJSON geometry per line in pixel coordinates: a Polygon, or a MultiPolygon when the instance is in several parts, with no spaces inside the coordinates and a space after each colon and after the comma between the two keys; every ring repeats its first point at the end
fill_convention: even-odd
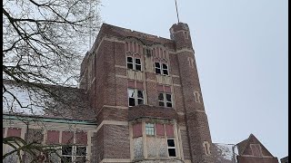
{"type": "MultiPolygon", "coordinates": [[[[253,133],[288,154],[287,0],[177,0],[190,27],[213,142],[253,133]]],[[[169,38],[175,0],[103,0],[105,23],[169,38]]]]}

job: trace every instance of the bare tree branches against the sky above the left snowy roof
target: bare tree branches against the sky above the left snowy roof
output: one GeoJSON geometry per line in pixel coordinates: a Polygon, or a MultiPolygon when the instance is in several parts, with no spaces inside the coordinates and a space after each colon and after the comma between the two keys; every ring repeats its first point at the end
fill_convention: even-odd
{"type": "Polygon", "coordinates": [[[98,0],[5,0],[3,77],[26,87],[75,86],[80,60],[100,27],[99,4],[98,0]]]}

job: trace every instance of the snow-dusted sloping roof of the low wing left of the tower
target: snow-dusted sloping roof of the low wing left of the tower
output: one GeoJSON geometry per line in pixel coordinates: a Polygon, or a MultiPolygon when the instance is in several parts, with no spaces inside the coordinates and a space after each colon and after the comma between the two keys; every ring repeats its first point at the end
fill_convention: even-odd
{"type": "Polygon", "coordinates": [[[95,120],[95,111],[89,107],[89,101],[82,89],[42,84],[42,88],[49,91],[47,93],[35,86],[28,88],[15,81],[3,82],[6,89],[3,94],[5,115],[95,120]]]}

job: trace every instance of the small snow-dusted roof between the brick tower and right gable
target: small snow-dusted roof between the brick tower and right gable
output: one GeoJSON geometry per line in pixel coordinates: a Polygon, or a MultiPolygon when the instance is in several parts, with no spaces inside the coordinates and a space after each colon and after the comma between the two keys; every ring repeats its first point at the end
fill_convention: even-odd
{"type": "Polygon", "coordinates": [[[213,143],[216,163],[236,163],[237,149],[235,144],[213,143]]]}

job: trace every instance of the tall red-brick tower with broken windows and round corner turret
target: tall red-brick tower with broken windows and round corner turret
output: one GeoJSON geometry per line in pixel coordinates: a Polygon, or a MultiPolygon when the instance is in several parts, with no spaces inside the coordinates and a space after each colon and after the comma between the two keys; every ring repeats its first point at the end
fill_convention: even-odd
{"type": "Polygon", "coordinates": [[[188,25],[170,34],[102,25],[80,82],[96,114],[95,162],[214,162],[188,25]]]}

